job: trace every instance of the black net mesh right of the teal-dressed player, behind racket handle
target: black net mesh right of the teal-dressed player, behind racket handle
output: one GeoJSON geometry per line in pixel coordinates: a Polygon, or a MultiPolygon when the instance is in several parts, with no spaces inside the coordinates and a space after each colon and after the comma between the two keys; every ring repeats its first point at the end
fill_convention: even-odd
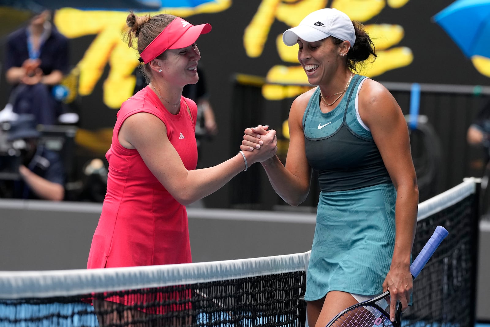
{"type": "Polygon", "coordinates": [[[436,226],[448,236],[414,280],[413,306],[402,315],[404,326],[474,326],[477,197],[472,194],[417,224],[415,258],[436,226]]]}

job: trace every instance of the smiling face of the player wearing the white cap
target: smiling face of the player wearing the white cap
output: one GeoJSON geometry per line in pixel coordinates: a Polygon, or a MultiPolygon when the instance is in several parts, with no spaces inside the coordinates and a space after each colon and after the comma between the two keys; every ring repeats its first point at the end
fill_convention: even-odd
{"type": "Polygon", "coordinates": [[[298,61],[312,85],[320,85],[330,80],[339,67],[345,65],[343,57],[340,56],[343,44],[335,45],[331,37],[315,42],[298,39],[298,46],[298,61]]]}

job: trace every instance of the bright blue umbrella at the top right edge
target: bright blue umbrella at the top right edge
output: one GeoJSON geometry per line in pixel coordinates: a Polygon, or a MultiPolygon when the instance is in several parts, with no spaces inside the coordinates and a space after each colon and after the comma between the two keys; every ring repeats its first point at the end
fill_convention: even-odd
{"type": "Polygon", "coordinates": [[[490,0],[457,0],[433,17],[468,57],[490,58],[490,0]]]}

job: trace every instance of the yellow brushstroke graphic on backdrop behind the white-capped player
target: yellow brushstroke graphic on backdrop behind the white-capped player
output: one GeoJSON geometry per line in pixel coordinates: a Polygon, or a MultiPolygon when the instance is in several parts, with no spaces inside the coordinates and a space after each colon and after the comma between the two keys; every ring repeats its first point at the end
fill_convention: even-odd
{"type": "MultiPolygon", "coordinates": [[[[352,20],[364,22],[379,14],[387,5],[400,8],[407,2],[408,0],[334,0],[332,7],[345,12],[352,20]]],[[[295,26],[310,12],[325,8],[326,4],[326,0],[263,0],[245,29],[244,46],[247,55],[258,57],[262,54],[274,20],[295,26]]],[[[402,26],[373,24],[366,25],[366,30],[373,40],[378,57],[361,74],[372,77],[412,63],[412,50],[397,46],[404,36],[402,26]]],[[[282,35],[276,36],[275,43],[281,60],[297,63],[297,46],[284,45],[282,35]]],[[[311,85],[301,66],[275,65],[266,76],[262,94],[269,100],[281,100],[297,96],[308,88],[311,85]]]]}

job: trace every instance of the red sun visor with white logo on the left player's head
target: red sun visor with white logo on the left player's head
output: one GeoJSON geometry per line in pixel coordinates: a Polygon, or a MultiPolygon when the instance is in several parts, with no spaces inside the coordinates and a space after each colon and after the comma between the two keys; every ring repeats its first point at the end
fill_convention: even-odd
{"type": "Polygon", "coordinates": [[[201,34],[211,31],[211,25],[192,25],[180,17],[175,18],[158,36],[141,52],[140,61],[147,64],[167,49],[181,49],[196,42],[201,34]]]}

